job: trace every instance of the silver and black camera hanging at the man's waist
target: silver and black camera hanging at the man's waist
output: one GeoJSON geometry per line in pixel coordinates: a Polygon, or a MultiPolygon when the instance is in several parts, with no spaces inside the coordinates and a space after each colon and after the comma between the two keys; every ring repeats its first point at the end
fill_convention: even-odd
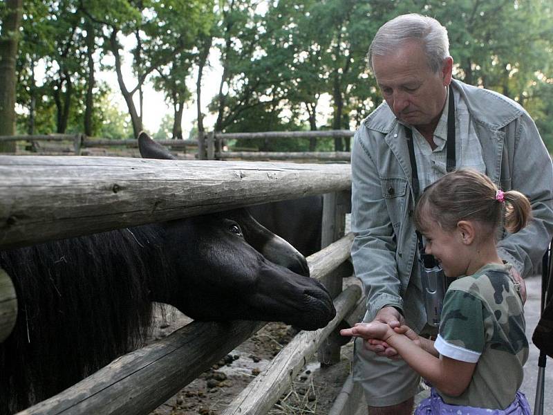
{"type": "Polygon", "coordinates": [[[433,255],[420,252],[419,256],[420,279],[424,291],[424,308],[427,312],[427,321],[431,326],[440,325],[440,315],[447,291],[444,270],[433,255]]]}

